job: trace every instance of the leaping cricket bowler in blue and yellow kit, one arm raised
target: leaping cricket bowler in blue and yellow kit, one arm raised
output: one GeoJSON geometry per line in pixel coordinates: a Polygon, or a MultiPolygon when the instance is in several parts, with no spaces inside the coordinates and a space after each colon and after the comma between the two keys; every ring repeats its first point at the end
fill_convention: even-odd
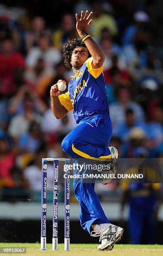
{"type": "MultiPolygon", "coordinates": [[[[112,136],[109,102],[103,75],[104,53],[88,33],[92,12],[76,14],[76,28],[80,39],[68,40],[63,57],[66,67],[72,68],[74,77],[68,92],[61,94],[57,84],[50,90],[51,106],[57,119],[73,110],[78,126],[62,141],[62,149],[73,159],[109,159],[115,171],[118,151],[108,147],[112,136]]],[[[64,82],[59,80],[59,82],[64,82]]],[[[101,180],[103,184],[108,183],[101,180]]],[[[123,228],[110,223],[94,191],[94,183],[74,183],[74,194],[79,201],[81,227],[91,236],[99,236],[98,251],[112,250],[120,240],[123,228]]]]}

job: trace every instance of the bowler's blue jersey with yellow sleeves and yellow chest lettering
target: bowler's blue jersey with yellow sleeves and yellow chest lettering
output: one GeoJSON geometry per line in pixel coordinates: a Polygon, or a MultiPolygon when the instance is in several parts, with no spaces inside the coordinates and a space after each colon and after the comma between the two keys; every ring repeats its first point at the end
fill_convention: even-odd
{"type": "Polygon", "coordinates": [[[103,66],[93,69],[92,61],[93,57],[86,60],[69,82],[68,92],[59,95],[59,101],[68,112],[74,108],[74,118],[77,123],[92,115],[109,115],[103,66]]]}

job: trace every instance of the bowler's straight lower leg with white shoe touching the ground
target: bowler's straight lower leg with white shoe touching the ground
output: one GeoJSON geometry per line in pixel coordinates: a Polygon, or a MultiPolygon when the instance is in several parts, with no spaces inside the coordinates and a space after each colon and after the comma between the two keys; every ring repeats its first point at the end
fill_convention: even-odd
{"type": "Polygon", "coordinates": [[[98,251],[112,250],[114,244],[120,240],[123,228],[109,222],[100,201],[94,191],[94,183],[84,183],[83,180],[74,182],[74,194],[80,203],[80,222],[82,228],[91,236],[99,236],[101,244],[98,251]]]}

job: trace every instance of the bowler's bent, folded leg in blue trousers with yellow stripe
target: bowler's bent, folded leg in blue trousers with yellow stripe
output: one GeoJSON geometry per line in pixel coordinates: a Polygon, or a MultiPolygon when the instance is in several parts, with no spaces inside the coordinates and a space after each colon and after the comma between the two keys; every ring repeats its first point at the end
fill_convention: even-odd
{"type": "Polygon", "coordinates": [[[111,159],[108,147],[112,136],[109,115],[84,118],[62,141],[62,149],[72,158],[111,159]]]}

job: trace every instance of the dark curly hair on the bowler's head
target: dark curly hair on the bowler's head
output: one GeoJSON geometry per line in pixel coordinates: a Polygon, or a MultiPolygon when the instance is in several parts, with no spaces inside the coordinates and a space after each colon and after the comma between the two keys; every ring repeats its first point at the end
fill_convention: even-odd
{"type": "MultiPolygon", "coordinates": [[[[72,67],[72,64],[71,64],[72,52],[76,47],[80,47],[80,46],[86,47],[86,45],[84,44],[83,41],[81,41],[80,38],[74,38],[72,40],[68,39],[67,43],[64,44],[64,46],[63,46],[62,56],[64,59],[64,64],[69,69],[72,67]]],[[[89,53],[89,51],[88,51],[88,53],[89,53]]],[[[90,53],[89,53],[88,57],[91,57],[90,53]]]]}

